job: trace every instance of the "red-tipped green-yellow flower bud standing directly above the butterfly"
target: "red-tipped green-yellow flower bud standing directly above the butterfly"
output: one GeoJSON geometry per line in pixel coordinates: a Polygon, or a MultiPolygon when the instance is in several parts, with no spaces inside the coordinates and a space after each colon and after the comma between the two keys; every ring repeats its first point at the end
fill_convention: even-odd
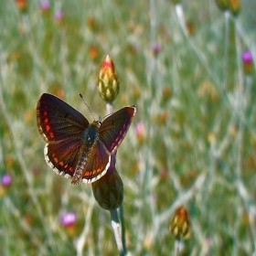
{"type": "Polygon", "coordinates": [[[104,101],[112,102],[119,92],[119,80],[109,55],[103,60],[98,80],[98,89],[104,101]]]}

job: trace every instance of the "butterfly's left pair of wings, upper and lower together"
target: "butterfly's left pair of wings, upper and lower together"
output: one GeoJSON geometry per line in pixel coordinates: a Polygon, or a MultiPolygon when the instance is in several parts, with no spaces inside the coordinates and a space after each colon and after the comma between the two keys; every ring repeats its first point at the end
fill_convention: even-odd
{"type": "Polygon", "coordinates": [[[47,142],[45,159],[57,174],[73,176],[88,125],[80,112],[54,95],[44,93],[37,101],[37,128],[47,142]]]}

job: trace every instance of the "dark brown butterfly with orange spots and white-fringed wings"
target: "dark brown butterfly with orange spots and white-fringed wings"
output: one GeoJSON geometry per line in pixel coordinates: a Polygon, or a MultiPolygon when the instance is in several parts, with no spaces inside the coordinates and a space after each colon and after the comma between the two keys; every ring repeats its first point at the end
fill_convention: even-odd
{"type": "Polygon", "coordinates": [[[106,174],[135,113],[135,106],[124,107],[89,123],[65,101],[43,93],[37,101],[37,128],[47,143],[46,162],[74,185],[95,182],[106,174]]]}

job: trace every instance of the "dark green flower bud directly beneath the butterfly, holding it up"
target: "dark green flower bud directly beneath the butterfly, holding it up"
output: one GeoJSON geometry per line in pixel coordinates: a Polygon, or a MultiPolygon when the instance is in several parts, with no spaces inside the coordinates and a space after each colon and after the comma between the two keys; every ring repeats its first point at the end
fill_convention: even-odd
{"type": "Polygon", "coordinates": [[[115,154],[107,173],[92,183],[92,191],[101,208],[113,210],[123,202],[123,182],[115,168],[115,154]]]}

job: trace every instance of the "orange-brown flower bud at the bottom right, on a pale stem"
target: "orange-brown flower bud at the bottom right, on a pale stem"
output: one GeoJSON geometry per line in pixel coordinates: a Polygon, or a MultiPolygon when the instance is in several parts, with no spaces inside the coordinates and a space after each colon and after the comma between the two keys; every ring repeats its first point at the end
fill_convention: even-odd
{"type": "Polygon", "coordinates": [[[170,231],[177,240],[189,237],[191,233],[190,220],[186,208],[176,208],[175,216],[171,221],[170,231]]]}

